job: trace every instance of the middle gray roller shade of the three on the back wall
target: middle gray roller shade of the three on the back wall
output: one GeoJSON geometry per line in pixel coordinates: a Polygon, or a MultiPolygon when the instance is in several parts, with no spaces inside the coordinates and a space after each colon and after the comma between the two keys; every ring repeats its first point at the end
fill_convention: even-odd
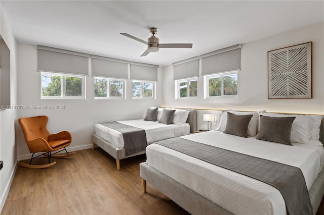
{"type": "Polygon", "coordinates": [[[91,56],[92,76],[128,79],[129,61],[91,56]]]}

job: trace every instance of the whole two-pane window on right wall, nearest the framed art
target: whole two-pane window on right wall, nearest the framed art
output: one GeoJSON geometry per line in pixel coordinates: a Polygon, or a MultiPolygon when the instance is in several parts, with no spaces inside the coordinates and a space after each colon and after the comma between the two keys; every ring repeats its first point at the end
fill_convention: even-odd
{"type": "Polygon", "coordinates": [[[206,97],[237,95],[237,71],[204,76],[206,97]]]}

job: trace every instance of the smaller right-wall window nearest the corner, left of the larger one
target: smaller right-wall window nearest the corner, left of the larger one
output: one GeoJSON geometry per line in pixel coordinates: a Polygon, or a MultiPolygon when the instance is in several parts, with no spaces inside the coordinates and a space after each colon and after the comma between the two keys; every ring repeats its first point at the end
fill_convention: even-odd
{"type": "Polygon", "coordinates": [[[197,97],[197,79],[185,79],[176,81],[177,98],[197,97]]]}

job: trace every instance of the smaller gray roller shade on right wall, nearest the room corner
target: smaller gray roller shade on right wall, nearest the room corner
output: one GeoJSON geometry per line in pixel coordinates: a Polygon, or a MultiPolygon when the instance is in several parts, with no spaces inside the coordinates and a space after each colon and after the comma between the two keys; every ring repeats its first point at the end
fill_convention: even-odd
{"type": "Polygon", "coordinates": [[[198,57],[173,63],[172,66],[173,66],[173,80],[198,77],[199,75],[198,57]]]}

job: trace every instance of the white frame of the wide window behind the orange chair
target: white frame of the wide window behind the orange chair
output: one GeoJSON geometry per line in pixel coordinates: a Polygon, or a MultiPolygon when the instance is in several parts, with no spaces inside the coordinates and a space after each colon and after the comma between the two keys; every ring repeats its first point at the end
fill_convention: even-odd
{"type": "Polygon", "coordinates": [[[53,72],[44,72],[41,71],[41,99],[86,99],[86,76],[85,75],[74,75],[67,73],[53,73],[53,72]],[[53,76],[61,76],[61,96],[43,96],[43,75],[53,75],[53,76]],[[66,77],[75,77],[81,78],[82,81],[82,95],[74,96],[74,95],[65,95],[66,93],[66,77]]]}

